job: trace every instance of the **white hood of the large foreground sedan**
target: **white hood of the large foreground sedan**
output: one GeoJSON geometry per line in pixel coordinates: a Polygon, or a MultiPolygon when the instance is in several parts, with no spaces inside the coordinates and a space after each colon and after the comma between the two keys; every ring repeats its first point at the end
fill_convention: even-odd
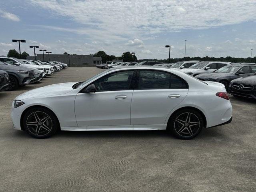
{"type": "Polygon", "coordinates": [[[53,95],[66,94],[74,90],[72,86],[76,83],[77,82],[60,83],[60,84],[53,84],[53,85],[32,89],[30,91],[24,92],[23,94],[19,95],[16,99],[22,100],[27,98],[47,97],[47,96],[53,96],[53,95]]]}

